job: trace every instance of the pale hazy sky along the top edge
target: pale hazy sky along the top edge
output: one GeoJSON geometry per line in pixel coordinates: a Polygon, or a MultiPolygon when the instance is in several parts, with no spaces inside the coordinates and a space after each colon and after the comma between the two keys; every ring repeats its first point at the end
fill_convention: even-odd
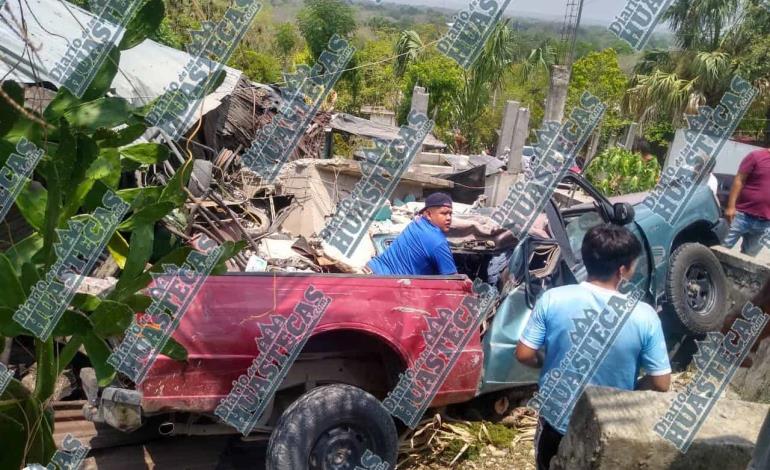
{"type": "MultiPolygon", "coordinates": [[[[465,8],[468,1],[463,0],[386,0],[388,2],[429,5],[445,8],[465,8]]],[[[583,7],[583,22],[586,24],[609,24],[615,19],[623,7],[624,0],[585,0],[583,7]]],[[[567,9],[567,0],[512,0],[506,13],[520,14],[537,18],[558,19],[564,18],[567,9]]]]}

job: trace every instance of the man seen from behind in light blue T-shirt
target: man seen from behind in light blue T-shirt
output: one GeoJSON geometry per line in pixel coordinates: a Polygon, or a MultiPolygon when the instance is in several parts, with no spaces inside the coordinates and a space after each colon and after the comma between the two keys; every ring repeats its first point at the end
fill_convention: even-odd
{"type": "MultiPolygon", "coordinates": [[[[625,227],[602,224],[586,233],[580,251],[588,272],[587,282],[546,291],[535,304],[516,346],[519,362],[542,367],[541,387],[544,377],[559,367],[572,347],[570,333],[577,326],[575,320],[585,317],[585,312],[602,312],[610,297],[625,297],[618,287],[622,280],[631,279],[642,246],[625,227]]],[[[640,369],[647,374],[642,379],[645,388],[668,391],[671,366],[663,329],[655,310],[644,302],[636,304],[589,383],[634,390],[640,369]]],[[[541,416],[535,438],[538,470],[549,468],[568,422],[569,418],[550,423],[541,416]]]]}

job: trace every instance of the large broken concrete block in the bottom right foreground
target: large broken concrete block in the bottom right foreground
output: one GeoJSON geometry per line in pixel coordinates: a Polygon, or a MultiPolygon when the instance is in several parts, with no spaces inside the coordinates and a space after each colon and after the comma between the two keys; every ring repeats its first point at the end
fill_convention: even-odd
{"type": "Polygon", "coordinates": [[[673,393],[588,387],[551,470],[746,469],[767,405],[718,401],[682,454],[652,430],[673,398],[673,393]]]}

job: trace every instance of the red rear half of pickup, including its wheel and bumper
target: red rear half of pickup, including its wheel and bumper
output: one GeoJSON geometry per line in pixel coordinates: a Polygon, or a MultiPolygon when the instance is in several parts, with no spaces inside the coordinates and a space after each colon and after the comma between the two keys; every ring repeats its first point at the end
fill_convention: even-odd
{"type": "MultiPolygon", "coordinates": [[[[440,308],[454,310],[474,295],[466,276],[211,276],[174,334],[188,360],[159,356],[137,390],[108,387],[100,406],[91,406],[86,415],[126,431],[149,416],[172,414],[175,418],[160,425],[162,433],[234,432],[217,424],[214,409],[258,355],[261,323],[273,315],[288,316],[310,285],[332,303],[255,428],[272,432],[268,466],[299,468],[286,462],[316,456],[318,465],[311,468],[348,468],[322,461],[341,451],[362,456],[366,450],[392,464],[396,427],[380,402],[425,348],[426,317],[440,308]],[[188,413],[193,421],[182,423],[179,415],[188,413]],[[286,435],[299,416],[302,434],[286,435]],[[303,447],[309,454],[285,455],[303,447]]],[[[476,396],[482,359],[480,335],[473,335],[431,406],[476,396]]]]}

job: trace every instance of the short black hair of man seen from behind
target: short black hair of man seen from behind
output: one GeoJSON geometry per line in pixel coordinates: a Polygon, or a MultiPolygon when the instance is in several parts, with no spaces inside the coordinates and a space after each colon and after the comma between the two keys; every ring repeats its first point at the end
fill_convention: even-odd
{"type": "Polygon", "coordinates": [[[642,244],[625,227],[601,224],[586,233],[580,253],[588,276],[604,281],[621,266],[631,266],[642,253],[642,244]]]}

